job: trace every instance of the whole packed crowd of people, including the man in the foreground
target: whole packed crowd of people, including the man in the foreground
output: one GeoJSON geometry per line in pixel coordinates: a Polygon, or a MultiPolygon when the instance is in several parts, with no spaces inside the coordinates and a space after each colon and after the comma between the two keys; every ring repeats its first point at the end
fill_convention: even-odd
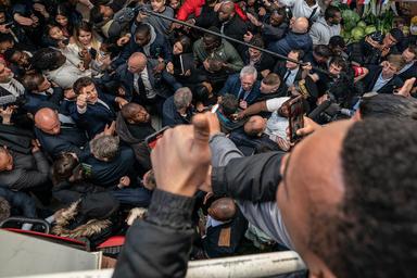
{"type": "Polygon", "coordinates": [[[416,36],[342,29],[327,0],[0,1],[0,222],[128,231],[116,277],[248,250],[410,277],[416,36]]]}

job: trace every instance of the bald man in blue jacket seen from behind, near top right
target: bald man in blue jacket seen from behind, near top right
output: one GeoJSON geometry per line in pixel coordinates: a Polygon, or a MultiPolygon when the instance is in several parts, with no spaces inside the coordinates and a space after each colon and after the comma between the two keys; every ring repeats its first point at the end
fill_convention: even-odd
{"type": "Polygon", "coordinates": [[[293,49],[301,49],[304,53],[312,51],[313,40],[308,35],[308,20],[299,17],[290,27],[291,30],[282,39],[269,43],[268,49],[286,56],[293,49]]]}

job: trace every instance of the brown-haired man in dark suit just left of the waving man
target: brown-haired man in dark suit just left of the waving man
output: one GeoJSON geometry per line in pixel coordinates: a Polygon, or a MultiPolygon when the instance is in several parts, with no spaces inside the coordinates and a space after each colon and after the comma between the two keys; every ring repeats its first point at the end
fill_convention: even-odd
{"type": "Polygon", "coordinates": [[[31,114],[41,106],[43,102],[60,105],[64,98],[64,91],[60,87],[52,87],[51,83],[40,73],[26,74],[22,78],[26,89],[24,109],[31,114]]]}

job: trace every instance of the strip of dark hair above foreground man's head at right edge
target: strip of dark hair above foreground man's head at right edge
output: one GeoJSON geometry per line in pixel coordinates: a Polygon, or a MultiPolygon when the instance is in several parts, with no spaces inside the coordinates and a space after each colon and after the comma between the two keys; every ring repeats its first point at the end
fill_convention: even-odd
{"type": "Polygon", "coordinates": [[[417,100],[402,96],[378,93],[361,99],[362,118],[406,118],[417,119],[417,100]]]}

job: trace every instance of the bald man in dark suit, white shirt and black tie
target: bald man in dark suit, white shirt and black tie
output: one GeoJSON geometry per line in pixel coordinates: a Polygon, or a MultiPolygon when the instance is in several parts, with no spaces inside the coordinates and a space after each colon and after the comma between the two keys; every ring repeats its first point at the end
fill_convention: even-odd
{"type": "MultiPolygon", "coordinates": [[[[157,60],[147,59],[142,52],[132,53],[128,61],[116,70],[113,81],[121,85],[118,92],[126,100],[140,104],[163,102],[170,92],[154,68],[157,60]]],[[[162,104],[161,104],[162,105],[162,104]]]]}

